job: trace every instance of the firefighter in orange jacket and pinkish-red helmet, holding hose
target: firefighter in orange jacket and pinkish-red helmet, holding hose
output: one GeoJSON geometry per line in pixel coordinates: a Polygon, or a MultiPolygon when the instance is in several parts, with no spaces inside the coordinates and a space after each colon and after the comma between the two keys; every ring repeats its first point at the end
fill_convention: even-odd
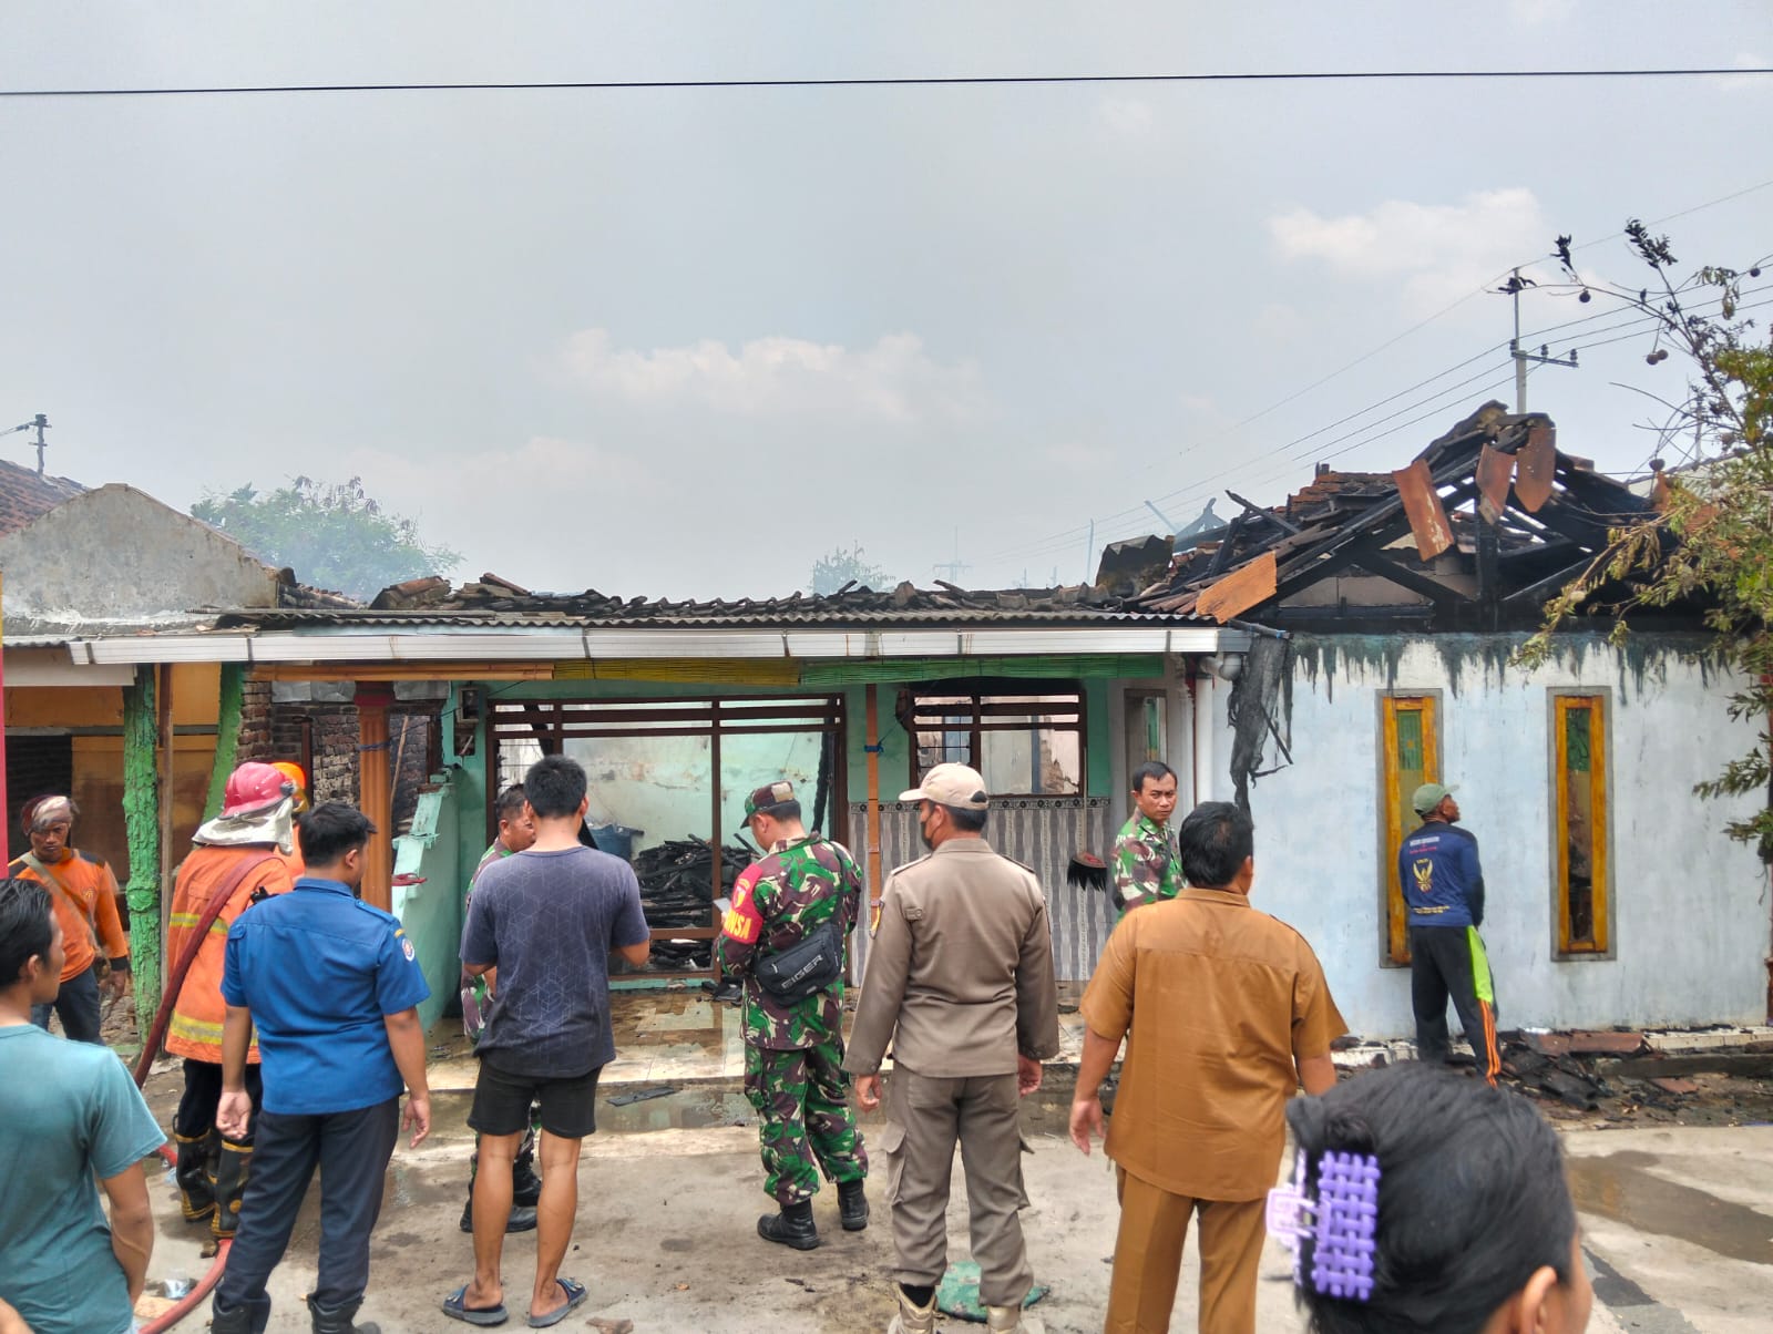
{"type": "Polygon", "coordinates": [[[236,768],[222,795],[222,814],[199,827],[191,855],[179,866],[167,917],[167,958],[181,960],[204,915],[222,898],[213,924],[184,974],[167,1024],[167,1050],[184,1057],[184,1095],[172,1118],[179,1157],[179,1208],[190,1220],[209,1219],[216,1240],[232,1238],[252,1162],[252,1134],[264,1087],[259,1080],[259,1043],[246,1048],[243,1084],[252,1100],[246,1134],[230,1139],[216,1128],[222,1102],[222,965],[229,928],[254,903],[291,887],[289,864],[278,851],[293,850],[289,781],[269,765],[236,768]]]}

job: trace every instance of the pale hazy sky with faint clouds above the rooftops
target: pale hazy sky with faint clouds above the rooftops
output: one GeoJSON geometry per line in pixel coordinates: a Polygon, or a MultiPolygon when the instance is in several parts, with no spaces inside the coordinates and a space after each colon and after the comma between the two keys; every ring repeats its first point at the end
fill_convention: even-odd
{"type": "MultiPolygon", "coordinates": [[[[1675,66],[1773,66],[1773,7],[0,7],[0,90],[1675,66]]],[[[0,98],[0,426],[181,509],[362,477],[457,582],[771,596],[860,545],[1074,584],[1147,502],[1512,406],[1512,266],[1525,342],[1580,348],[1528,408],[1642,472],[1681,364],[1553,238],[1596,284],[1640,286],[1631,216],[1746,270],[1769,112],[1741,75],[0,98]]]]}

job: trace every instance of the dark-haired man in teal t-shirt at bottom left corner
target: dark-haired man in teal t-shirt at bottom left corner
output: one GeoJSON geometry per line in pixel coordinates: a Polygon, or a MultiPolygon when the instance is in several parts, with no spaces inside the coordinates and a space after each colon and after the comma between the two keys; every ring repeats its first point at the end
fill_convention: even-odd
{"type": "Polygon", "coordinates": [[[30,1022],[64,960],[50,891],[0,880],[0,1306],[35,1334],[128,1334],[154,1249],[142,1158],[167,1137],[110,1048],[30,1022]]]}

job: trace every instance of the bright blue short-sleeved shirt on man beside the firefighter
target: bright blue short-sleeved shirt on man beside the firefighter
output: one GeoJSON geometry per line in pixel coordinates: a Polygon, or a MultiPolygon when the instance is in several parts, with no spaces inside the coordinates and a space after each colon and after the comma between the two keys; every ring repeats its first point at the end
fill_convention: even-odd
{"type": "Polygon", "coordinates": [[[431,995],[394,914],[301,876],[227,933],[222,999],[259,1029],[264,1110],[324,1116],[401,1095],[385,1015],[431,995]]]}

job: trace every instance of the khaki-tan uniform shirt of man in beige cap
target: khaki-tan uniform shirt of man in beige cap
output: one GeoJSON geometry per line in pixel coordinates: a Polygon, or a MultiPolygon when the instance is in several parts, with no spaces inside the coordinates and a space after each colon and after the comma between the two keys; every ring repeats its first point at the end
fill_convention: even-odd
{"type": "Polygon", "coordinates": [[[949,839],[886,878],[844,1070],[963,1079],[1058,1055],[1046,896],[984,839],[949,839]]]}

